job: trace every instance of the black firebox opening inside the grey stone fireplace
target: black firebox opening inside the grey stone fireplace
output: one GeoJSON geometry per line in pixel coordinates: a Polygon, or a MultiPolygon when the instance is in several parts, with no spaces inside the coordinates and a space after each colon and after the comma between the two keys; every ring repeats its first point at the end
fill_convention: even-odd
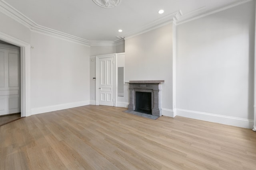
{"type": "Polygon", "coordinates": [[[135,111],[152,115],[150,92],[136,92],[136,110],[135,111]]]}

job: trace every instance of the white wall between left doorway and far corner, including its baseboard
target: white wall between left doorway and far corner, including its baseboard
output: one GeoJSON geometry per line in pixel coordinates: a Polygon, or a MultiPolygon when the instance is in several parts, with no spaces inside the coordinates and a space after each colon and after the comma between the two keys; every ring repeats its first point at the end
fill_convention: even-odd
{"type": "Polygon", "coordinates": [[[32,114],[90,101],[90,47],[31,32],[32,114]]]}

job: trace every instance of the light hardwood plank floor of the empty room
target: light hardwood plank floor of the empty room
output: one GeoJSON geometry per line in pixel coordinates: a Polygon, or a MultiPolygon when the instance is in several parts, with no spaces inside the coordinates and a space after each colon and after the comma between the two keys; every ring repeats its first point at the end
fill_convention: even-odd
{"type": "Polygon", "coordinates": [[[83,106],[0,127],[1,170],[256,170],[256,132],[83,106]]]}

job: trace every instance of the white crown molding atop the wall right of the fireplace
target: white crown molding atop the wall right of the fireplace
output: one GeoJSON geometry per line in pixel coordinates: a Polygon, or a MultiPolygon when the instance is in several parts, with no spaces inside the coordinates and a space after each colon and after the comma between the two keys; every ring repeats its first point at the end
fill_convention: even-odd
{"type": "MultiPolygon", "coordinates": [[[[209,15],[212,15],[212,14],[216,14],[218,12],[221,12],[221,11],[224,11],[224,10],[228,10],[230,8],[233,8],[233,7],[245,4],[245,3],[250,2],[250,1],[252,1],[252,0],[243,0],[243,1],[237,2],[235,4],[232,4],[232,5],[220,8],[218,10],[214,10],[214,11],[211,11],[211,12],[199,15],[199,16],[195,16],[195,17],[192,17],[192,18],[189,18],[189,19],[186,19],[186,20],[182,20],[182,18],[181,18],[180,21],[177,22],[177,25],[180,25],[180,24],[183,24],[183,23],[186,23],[186,22],[190,22],[190,21],[193,21],[193,20],[197,20],[199,18],[203,18],[203,17],[209,16],[209,15]]],[[[186,16],[186,14],[185,14],[185,16],[186,16]]]]}

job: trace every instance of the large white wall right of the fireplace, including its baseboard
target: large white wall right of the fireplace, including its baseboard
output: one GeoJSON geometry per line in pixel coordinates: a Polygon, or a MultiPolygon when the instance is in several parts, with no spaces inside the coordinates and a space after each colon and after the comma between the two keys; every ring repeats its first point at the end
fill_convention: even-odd
{"type": "Polygon", "coordinates": [[[178,115],[251,126],[254,24],[251,1],[177,26],[178,115]]]}

